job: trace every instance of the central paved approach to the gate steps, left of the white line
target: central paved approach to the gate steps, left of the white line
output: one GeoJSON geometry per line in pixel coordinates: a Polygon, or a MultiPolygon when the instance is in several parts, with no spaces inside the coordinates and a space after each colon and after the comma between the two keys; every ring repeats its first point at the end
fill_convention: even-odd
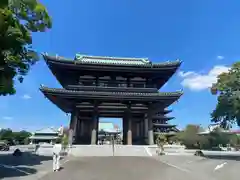
{"type": "Polygon", "coordinates": [[[67,162],[61,171],[49,173],[41,180],[188,180],[186,176],[186,172],[150,157],[118,156],[78,158],[67,162]]]}

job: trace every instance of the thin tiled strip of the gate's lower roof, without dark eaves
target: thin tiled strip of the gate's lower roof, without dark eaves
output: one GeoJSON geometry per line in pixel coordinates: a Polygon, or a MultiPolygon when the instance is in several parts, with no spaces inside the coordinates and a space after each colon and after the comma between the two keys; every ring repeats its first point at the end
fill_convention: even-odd
{"type": "Polygon", "coordinates": [[[41,87],[41,91],[45,92],[57,92],[57,93],[68,93],[68,94],[82,94],[82,95],[115,95],[115,96],[146,96],[146,97],[154,97],[154,96],[181,96],[183,94],[182,91],[176,92],[156,92],[156,93],[139,93],[139,92],[98,92],[98,91],[75,91],[75,90],[66,90],[63,88],[47,88],[41,87]]]}

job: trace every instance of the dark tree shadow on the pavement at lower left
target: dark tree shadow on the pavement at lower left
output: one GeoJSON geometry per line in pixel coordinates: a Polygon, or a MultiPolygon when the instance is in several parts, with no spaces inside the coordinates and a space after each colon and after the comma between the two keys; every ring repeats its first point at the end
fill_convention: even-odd
{"type": "Polygon", "coordinates": [[[20,157],[13,156],[11,153],[0,154],[0,179],[35,174],[37,169],[34,166],[50,160],[52,160],[51,156],[40,156],[28,152],[22,153],[20,157]]]}

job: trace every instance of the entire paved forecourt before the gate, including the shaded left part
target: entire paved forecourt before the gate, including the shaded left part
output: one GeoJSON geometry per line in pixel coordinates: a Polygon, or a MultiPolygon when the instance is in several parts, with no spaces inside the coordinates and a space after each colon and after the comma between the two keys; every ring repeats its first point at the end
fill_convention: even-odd
{"type": "Polygon", "coordinates": [[[63,169],[60,172],[52,172],[51,157],[26,156],[24,160],[16,160],[0,155],[1,164],[13,167],[0,166],[0,179],[237,180],[240,168],[237,160],[195,156],[71,157],[61,161],[63,169]],[[216,167],[219,169],[215,170],[216,167]]]}

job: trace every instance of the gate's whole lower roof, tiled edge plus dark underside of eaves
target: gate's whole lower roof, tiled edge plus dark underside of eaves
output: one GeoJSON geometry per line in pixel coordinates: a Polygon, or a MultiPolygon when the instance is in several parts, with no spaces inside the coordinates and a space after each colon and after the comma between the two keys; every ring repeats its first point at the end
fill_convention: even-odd
{"type": "MultiPolygon", "coordinates": [[[[154,102],[152,106],[158,107],[169,106],[174,103],[183,94],[182,91],[177,92],[156,92],[156,93],[134,93],[134,92],[98,92],[98,91],[75,91],[61,88],[41,87],[43,94],[54,104],[56,104],[64,112],[71,111],[73,99],[75,103],[85,100],[106,100],[106,101],[136,101],[136,102],[154,102]],[[156,104],[156,105],[155,105],[156,104]]],[[[162,107],[162,108],[165,108],[162,107]]],[[[120,110],[114,106],[115,110],[120,110]]],[[[108,109],[108,108],[107,108],[108,109]]]]}

